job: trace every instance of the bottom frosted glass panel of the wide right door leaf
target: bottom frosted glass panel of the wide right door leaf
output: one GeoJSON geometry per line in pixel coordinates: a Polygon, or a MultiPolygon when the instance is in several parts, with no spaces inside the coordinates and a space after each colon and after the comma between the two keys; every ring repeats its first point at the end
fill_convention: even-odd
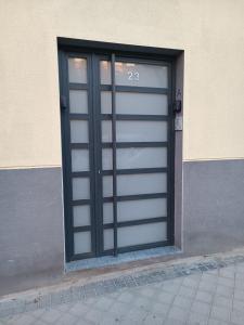
{"type": "MultiPolygon", "coordinates": [[[[118,229],[118,247],[167,240],[167,223],[156,222],[118,229]]],[[[104,231],[104,249],[114,248],[114,231],[104,231]]]]}

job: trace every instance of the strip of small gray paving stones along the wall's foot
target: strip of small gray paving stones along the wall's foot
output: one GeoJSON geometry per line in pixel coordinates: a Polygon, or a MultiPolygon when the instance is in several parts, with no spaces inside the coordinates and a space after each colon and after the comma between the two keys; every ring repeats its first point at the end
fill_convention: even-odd
{"type": "Polygon", "coordinates": [[[220,270],[239,262],[244,262],[244,248],[211,256],[181,258],[167,262],[152,263],[151,265],[139,266],[132,270],[91,276],[86,282],[78,280],[77,272],[67,282],[2,297],[0,299],[0,317],[99,297],[123,288],[143,286],[180,276],[220,270]]]}

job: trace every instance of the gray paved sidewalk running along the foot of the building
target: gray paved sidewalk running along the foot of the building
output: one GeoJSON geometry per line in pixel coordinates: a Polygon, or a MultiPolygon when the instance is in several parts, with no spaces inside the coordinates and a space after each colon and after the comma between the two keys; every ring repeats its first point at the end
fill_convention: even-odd
{"type": "Polygon", "coordinates": [[[243,325],[244,250],[3,297],[0,324],[243,325]]]}

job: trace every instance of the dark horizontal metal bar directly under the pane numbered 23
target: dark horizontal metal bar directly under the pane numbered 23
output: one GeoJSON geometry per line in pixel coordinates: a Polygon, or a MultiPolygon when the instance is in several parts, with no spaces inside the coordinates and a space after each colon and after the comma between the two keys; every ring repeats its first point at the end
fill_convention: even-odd
{"type": "MultiPolygon", "coordinates": [[[[111,84],[101,84],[101,91],[112,91],[111,84]]],[[[152,87],[134,87],[134,86],[116,86],[116,92],[137,92],[137,93],[158,93],[168,94],[168,88],[152,88],[152,87]]]]}

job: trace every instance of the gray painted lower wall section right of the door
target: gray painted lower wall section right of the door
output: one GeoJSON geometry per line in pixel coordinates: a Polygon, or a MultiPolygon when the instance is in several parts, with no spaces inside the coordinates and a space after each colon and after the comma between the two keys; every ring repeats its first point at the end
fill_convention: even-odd
{"type": "Polygon", "coordinates": [[[244,160],[183,164],[183,251],[204,255],[244,245],[244,160]]]}

